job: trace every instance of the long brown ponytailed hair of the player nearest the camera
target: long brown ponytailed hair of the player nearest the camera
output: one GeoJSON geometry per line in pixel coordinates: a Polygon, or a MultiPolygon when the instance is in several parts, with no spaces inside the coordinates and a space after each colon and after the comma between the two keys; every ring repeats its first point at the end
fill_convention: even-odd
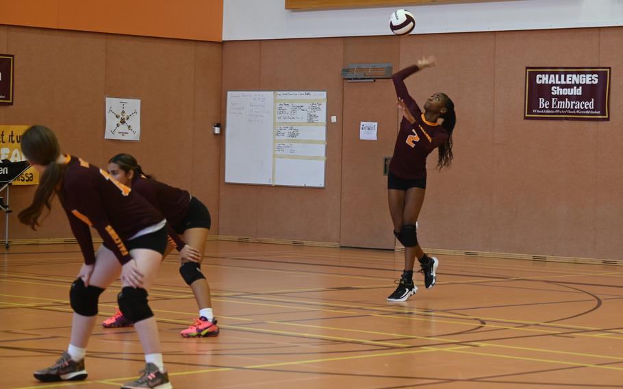
{"type": "Polygon", "coordinates": [[[31,205],[17,216],[21,223],[36,229],[40,225],[39,218],[43,208],[51,209],[52,200],[62,187],[67,165],[56,162],[60,155],[60,147],[55,134],[47,127],[41,125],[30,127],[22,135],[20,144],[29,162],[46,166],[31,205]]]}

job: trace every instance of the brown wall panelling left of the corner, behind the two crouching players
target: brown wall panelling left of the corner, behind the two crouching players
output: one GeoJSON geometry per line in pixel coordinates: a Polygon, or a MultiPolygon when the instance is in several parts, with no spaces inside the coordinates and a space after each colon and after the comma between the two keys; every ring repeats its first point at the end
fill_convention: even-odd
{"type": "MultiPolygon", "coordinates": [[[[47,125],[64,152],[103,168],[131,153],[157,179],[201,199],[218,232],[220,43],[0,26],[0,45],[7,30],[16,92],[14,105],[0,107],[1,124],[47,125]],[[140,142],[104,140],[105,97],[141,100],[140,142]]],[[[40,231],[18,223],[35,188],[11,188],[10,238],[71,237],[58,201],[40,231]]]]}

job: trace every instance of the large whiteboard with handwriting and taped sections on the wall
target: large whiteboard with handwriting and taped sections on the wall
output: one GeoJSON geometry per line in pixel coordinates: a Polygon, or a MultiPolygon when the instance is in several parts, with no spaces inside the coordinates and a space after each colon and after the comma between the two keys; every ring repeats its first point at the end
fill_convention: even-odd
{"type": "Polygon", "coordinates": [[[225,182],[325,187],[327,92],[230,90],[225,182]]]}

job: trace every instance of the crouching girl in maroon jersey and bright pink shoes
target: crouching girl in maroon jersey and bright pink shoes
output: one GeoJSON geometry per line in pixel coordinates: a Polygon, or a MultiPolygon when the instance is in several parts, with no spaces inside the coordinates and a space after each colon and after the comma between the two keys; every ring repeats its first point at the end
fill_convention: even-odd
{"type": "MultiPolygon", "coordinates": [[[[108,161],[108,173],[121,184],[141,194],[166,216],[169,236],[180,253],[179,273],[192,289],[199,305],[199,318],[196,318],[190,327],[181,331],[181,336],[186,338],[217,336],[219,330],[212,312],[209,284],[200,267],[205,240],[211,225],[210,214],[205,205],[199,199],[190,196],[186,190],[173,188],[144,174],[136,158],[129,154],[122,153],[111,158],[108,161]],[[183,240],[178,234],[183,236],[183,240]]],[[[170,249],[165,256],[168,252],[170,249]]],[[[118,312],[103,325],[122,327],[128,325],[128,321],[118,312]]]]}

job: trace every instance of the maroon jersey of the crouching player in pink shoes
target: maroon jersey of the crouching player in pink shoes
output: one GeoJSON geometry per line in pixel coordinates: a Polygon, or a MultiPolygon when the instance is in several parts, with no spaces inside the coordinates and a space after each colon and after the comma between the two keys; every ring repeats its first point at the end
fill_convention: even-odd
{"type": "Polygon", "coordinates": [[[147,177],[139,177],[138,175],[132,179],[132,190],[138,192],[164,214],[170,240],[173,240],[177,251],[183,249],[186,243],[179,238],[171,226],[179,225],[186,218],[190,205],[190,193],[155,179],[147,179],[147,177]]]}

